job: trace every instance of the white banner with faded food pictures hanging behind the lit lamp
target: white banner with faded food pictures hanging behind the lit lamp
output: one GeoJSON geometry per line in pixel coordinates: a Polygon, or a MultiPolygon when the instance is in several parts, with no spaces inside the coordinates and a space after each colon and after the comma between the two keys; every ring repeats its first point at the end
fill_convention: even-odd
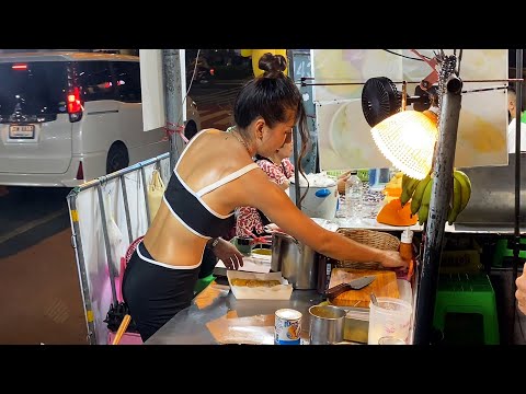
{"type": "MultiPolygon", "coordinates": [[[[418,51],[434,56],[431,49],[418,51]]],[[[445,51],[453,54],[451,49],[445,51]]],[[[408,94],[413,95],[432,68],[409,49],[312,49],[311,59],[315,81],[320,83],[313,86],[320,167],[389,166],[365,121],[363,84],[370,78],[387,77],[399,92],[400,82],[407,81],[408,94]]],[[[465,49],[460,78],[467,91],[506,85],[507,49],[465,49]]],[[[507,164],[506,103],[505,90],[462,94],[455,166],[507,164]]]]}

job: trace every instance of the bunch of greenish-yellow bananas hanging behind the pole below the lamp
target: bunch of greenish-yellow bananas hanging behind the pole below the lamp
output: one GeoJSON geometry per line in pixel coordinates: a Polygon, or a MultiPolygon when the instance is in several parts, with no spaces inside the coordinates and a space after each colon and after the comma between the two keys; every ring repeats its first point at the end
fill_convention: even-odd
{"type": "MultiPolygon", "coordinates": [[[[432,186],[431,172],[422,181],[414,179],[405,174],[402,176],[402,194],[400,196],[402,207],[411,200],[411,215],[419,215],[420,224],[427,221],[432,186]]],[[[466,208],[471,197],[471,181],[468,175],[459,170],[453,172],[451,196],[447,212],[447,222],[449,224],[457,220],[458,215],[466,208]]]]}

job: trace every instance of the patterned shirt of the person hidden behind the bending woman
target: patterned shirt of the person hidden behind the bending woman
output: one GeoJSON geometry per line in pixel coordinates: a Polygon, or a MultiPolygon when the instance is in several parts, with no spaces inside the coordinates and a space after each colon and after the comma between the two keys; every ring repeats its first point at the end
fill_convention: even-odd
{"type": "MultiPolygon", "coordinates": [[[[267,159],[258,160],[256,163],[268,175],[268,178],[277,185],[283,185],[294,175],[294,164],[288,158],[283,159],[281,164],[274,164],[267,159]]],[[[268,222],[268,220],[266,221],[268,222]]],[[[263,227],[262,217],[256,208],[240,207],[236,209],[236,235],[261,235],[265,232],[263,227]]]]}

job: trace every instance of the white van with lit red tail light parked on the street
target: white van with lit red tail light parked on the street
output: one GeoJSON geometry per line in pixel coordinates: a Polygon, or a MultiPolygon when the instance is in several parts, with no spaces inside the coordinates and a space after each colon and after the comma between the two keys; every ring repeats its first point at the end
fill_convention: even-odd
{"type": "MultiPolygon", "coordinates": [[[[0,81],[0,185],[75,187],[170,149],[164,130],[142,129],[136,56],[2,54],[0,81]]],[[[190,138],[190,97],[186,116],[190,138]]]]}

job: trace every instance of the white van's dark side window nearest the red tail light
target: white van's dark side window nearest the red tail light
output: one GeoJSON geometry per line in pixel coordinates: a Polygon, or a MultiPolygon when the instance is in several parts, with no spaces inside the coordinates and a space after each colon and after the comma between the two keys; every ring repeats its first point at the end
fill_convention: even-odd
{"type": "Polygon", "coordinates": [[[84,102],[115,100],[115,86],[108,61],[77,62],[77,84],[84,102]]]}

